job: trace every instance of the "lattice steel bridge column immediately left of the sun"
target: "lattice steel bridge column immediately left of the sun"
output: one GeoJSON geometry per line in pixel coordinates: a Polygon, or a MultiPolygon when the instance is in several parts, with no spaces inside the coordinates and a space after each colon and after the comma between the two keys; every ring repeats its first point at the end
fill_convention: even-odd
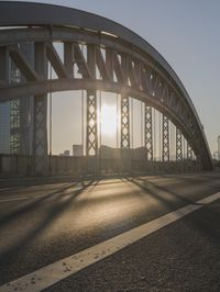
{"type": "Polygon", "coordinates": [[[98,128],[97,128],[97,96],[96,91],[87,91],[87,135],[86,155],[98,155],[98,128]]]}

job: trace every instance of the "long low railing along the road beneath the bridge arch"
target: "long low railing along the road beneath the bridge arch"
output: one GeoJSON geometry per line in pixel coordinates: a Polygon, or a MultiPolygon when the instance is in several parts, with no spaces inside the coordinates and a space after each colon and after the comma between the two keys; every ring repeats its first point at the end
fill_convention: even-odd
{"type": "MultiPolygon", "coordinates": [[[[44,176],[86,176],[108,173],[178,173],[199,169],[196,160],[147,161],[144,159],[107,159],[100,157],[47,156],[44,176]]],[[[25,176],[34,173],[34,158],[23,155],[0,155],[0,176],[25,176]]]]}

